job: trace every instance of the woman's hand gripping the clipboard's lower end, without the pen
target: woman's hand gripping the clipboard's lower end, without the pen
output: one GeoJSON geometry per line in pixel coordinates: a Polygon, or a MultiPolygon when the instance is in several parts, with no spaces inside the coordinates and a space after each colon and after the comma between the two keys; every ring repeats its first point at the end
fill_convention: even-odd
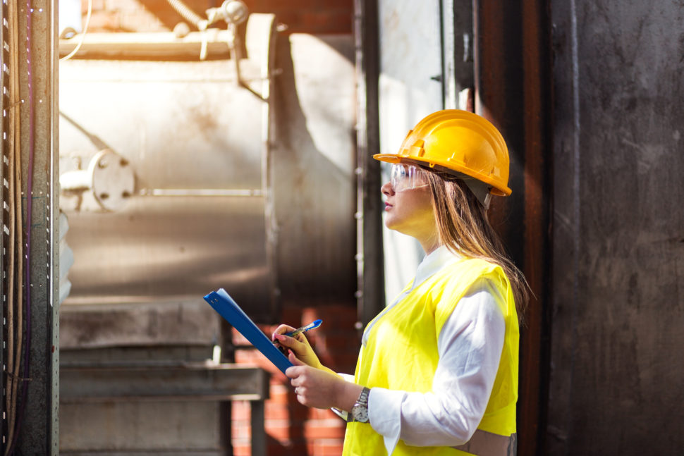
{"type": "Polygon", "coordinates": [[[295,387],[300,404],[318,409],[338,409],[349,411],[361,394],[362,386],[345,381],[337,374],[307,366],[293,352],[288,357],[294,366],[285,371],[295,387]]]}

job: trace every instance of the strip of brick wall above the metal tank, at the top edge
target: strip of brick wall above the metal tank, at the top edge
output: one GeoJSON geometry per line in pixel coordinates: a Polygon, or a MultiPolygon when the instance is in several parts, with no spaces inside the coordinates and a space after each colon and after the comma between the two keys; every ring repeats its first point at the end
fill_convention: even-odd
{"type": "MultiPolygon", "coordinates": [[[[351,33],[353,0],[244,0],[251,13],[273,13],[285,33],[351,33]]],[[[183,0],[195,13],[222,0],[183,0]]],[[[85,20],[87,0],[81,0],[85,20]]],[[[92,0],[92,32],[168,32],[183,18],[166,0],[92,0]]]]}

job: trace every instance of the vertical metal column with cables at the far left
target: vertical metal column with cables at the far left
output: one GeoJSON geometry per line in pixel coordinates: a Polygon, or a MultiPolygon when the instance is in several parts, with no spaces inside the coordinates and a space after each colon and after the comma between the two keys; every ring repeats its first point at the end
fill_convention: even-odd
{"type": "Polygon", "coordinates": [[[28,390],[20,404],[16,450],[22,455],[59,453],[59,202],[56,195],[57,92],[56,0],[20,1],[19,81],[23,210],[29,283],[24,284],[30,321],[25,336],[28,390]],[[23,44],[27,44],[26,47],[23,44]],[[28,212],[28,208],[31,211],[28,212]],[[53,280],[53,278],[55,278],[53,280]]]}

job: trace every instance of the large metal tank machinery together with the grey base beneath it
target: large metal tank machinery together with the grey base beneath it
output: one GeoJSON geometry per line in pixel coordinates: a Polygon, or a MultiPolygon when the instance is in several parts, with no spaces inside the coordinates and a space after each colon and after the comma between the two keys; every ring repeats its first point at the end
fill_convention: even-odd
{"type": "Polygon", "coordinates": [[[288,37],[276,68],[274,16],[229,3],[207,23],[179,6],[195,32],[61,39],[61,454],[224,454],[234,398],[264,454],[268,379],[226,363],[202,296],[225,288],[258,323],[288,300],[355,305],[353,42],[288,37]]]}

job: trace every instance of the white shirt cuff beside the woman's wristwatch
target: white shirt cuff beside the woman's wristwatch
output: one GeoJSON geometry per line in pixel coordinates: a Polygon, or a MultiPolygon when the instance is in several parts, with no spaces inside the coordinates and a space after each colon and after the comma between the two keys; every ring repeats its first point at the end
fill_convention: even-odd
{"type": "Polygon", "coordinates": [[[392,454],[399,442],[401,403],[405,397],[405,391],[385,388],[371,388],[368,395],[370,426],[382,436],[388,455],[392,454]]]}

